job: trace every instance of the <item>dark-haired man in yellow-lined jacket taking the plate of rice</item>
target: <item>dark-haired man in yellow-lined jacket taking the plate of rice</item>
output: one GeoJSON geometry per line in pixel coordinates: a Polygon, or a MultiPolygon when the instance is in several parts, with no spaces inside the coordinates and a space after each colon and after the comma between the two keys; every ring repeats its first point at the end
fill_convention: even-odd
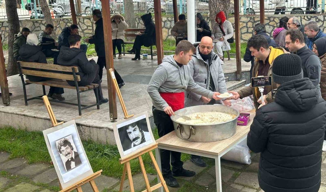
{"type": "MultiPolygon", "coordinates": [[[[268,47],[268,42],[266,38],[262,35],[252,36],[248,40],[247,47],[249,47],[251,55],[256,57],[255,64],[252,70],[253,77],[271,76],[274,59],[277,56],[284,54],[284,50],[282,48],[268,47]]],[[[252,87],[251,85],[244,87],[243,89],[237,92],[229,92],[233,94],[231,99],[234,100],[253,95],[255,108],[257,110],[262,102],[265,102],[267,104],[273,101],[271,91],[275,88],[276,84],[274,82],[272,82],[272,86],[264,87],[263,101],[261,101],[260,99],[261,94],[259,92],[259,88],[252,87]]]]}

